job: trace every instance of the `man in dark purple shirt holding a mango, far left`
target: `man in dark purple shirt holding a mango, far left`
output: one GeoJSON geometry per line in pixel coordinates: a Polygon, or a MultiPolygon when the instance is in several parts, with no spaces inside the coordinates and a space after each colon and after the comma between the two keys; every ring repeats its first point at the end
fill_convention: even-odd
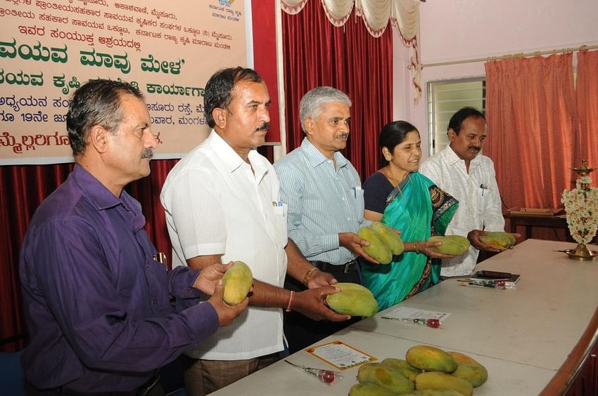
{"type": "Polygon", "coordinates": [[[246,309],[222,301],[229,265],[167,271],[123,190],[157,144],[141,92],[79,88],[67,114],[75,169],[39,206],[20,252],[29,395],[163,395],[157,369],[246,309]],[[200,291],[213,294],[197,303],[200,291]]]}

